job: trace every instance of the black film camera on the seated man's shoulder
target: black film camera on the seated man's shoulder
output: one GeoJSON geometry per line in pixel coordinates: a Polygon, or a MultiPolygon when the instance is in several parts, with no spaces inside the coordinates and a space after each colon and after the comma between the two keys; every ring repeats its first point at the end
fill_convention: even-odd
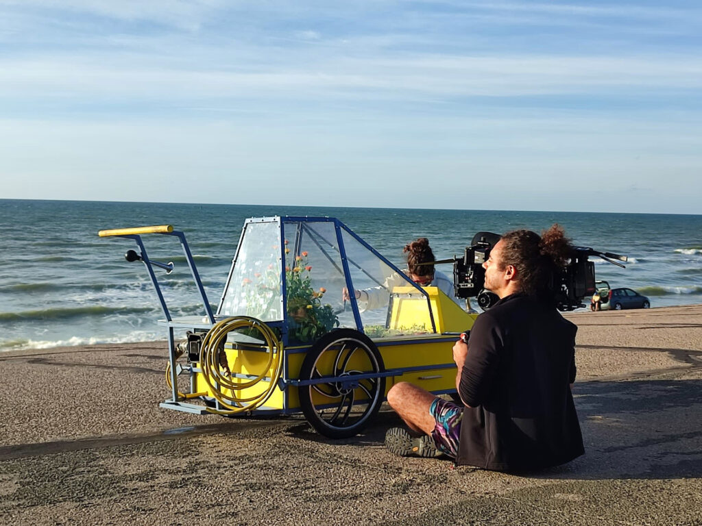
{"type": "MultiPolygon", "coordinates": [[[[463,257],[453,259],[453,288],[456,297],[475,297],[478,306],[484,311],[498,302],[493,292],[485,290],[485,269],[482,264],[490,257],[490,250],[500,241],[501,236],[493,232],[478,232],[470,246],[465,247],[463,257]]],[[[607,262],[624,267],[612,261],[626,261],[627,257],[612,252],[599,252],[588,247],[574,247],[568,264],[555,276],[554,290],[559,311],[572,311],[585,306],[582,300],[595,293],[595,263],[590,256],[598,256],[607,262]]]]}

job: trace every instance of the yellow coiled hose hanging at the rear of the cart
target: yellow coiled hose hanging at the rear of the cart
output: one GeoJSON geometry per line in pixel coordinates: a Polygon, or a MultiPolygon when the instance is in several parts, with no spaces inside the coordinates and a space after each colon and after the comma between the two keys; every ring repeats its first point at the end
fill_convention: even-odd
{"type": "Polygon", "coordinates": [[[208,412],[217,414],[237,414],[240,412],[252,411],[263,405],[270,398],[273,391],[278,386],[278,380],[283,371],[283,344],[268,325],[250,316],[237,316],[218,321],[207,332],[202,339],[200,348],[200,367],[202,377],[212,391],[212,396],[218,402],[227,407],[227,410],[218,410],[208,407],[208,412]],[[260,375],[244,381],[241,378],[232,377],[228,371],[223,371],[220,367],[219,349],[227,341],[227,334],[232,330],[253,328],[258,330],[263,336],[267,346],[268,363],[263,366],[260,375]],[[237,392],[249,389],[270,374],[270,382],[267,387],[258,395],[248,398],[237,396],[237,392]]]}

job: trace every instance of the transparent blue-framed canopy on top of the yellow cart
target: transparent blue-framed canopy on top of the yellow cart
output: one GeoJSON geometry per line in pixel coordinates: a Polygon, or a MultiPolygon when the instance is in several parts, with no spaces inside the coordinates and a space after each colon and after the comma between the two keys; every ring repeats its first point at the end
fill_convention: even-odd
{"type": "Polygon", "coordinates": [[[246,220],[217,314],[253,316],[303,343],[336,327],[371,337],[435,332],[426,293],[330,217],[246,220]],[[411,320],[398,315],[399,297],[414,300],[411,320]]]}

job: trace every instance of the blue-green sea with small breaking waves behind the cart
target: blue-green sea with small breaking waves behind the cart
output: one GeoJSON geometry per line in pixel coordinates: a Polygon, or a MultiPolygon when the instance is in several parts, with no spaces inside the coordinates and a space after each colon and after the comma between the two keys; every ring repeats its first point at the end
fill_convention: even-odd
{"type": "MultiPolygon", "coordinates": [[[[402,248],[427,237],[437,259],[462,255],[477,231],[534,231],[561,224],[575,245],[628,256],[625,269],[595,258],[597,279],[629,287],[651,307],[702,303],[702,215],[405,208],[29,201],[0,199],[0,351],[165,339],[145,266],[127,262],[127,238],[101,229],[172,224],[183,231],[216,307],[248,217],[337,217],[402,266],[402,248]]],[[[171,314],[203,312],[176,238],[143,236],[171,314]]],[[[451,275],[451,265],[442,270],[451,275]]]]}

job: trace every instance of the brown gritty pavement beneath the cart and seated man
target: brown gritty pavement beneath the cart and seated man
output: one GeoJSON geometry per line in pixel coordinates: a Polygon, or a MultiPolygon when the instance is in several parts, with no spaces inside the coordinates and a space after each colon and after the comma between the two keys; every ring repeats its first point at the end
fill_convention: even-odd
{"type": "Polygon", "coordinates": [[[164,342],[2,353],[0,524],[702,525],[702,306],[567,318],[586,454],[528,476],[161,409],[164,342]]]}

